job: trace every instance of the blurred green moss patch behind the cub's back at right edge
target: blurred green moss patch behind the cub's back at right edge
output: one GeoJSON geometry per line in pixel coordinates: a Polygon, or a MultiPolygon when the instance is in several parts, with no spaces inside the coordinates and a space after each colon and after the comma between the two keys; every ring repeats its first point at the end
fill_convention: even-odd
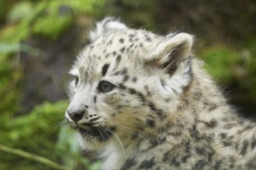
{"type": "Polygon", "coordinates": [[[238,52],[229,46],[218,45],[202,49],[199,57],[206,65],[206,70],[221,84],[235,84],[247,100],[256,99],[256,39],[245,42],[238,52]]]}

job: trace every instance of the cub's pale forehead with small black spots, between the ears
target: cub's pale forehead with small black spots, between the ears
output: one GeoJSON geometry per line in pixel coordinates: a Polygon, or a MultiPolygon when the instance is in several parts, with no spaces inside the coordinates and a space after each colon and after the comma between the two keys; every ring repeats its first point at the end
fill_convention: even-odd
{"type": "MultiPolygon", "coordinates": [[[[100,37],[85,47],[78,55],[78,70],[99,74],[106,63],[120,60],[133,63],[148,52],[161,37],[143,29],[126,29],[100,37]]],[[[96,76],[96,75],[95,75],[96,76]]]]}

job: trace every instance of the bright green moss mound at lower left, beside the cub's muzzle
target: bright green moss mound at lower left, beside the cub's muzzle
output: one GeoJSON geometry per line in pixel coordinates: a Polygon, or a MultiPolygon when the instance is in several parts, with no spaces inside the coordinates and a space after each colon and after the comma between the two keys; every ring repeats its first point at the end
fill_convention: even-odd
{"type": "MultiPolygon", "coordinates": [[[[56,160],[57,151],[55,145],[60,127],[57,122],[60,123],[60,121],[64,120],[66,107],[66,100],[61,100],[56,104],[46,102],[35,107],[29,114],[12,118],[2,117],[2,119],[5,119],[3,120],[5,123],[2,123],[0,143],[56,160]],[[49,151],[51,152],[50,155],[49,151]]],[[[5,162],[5,166],[9,164],[9,167],[12,167],[12,162],[16,162],[16,167],[34,167],[33,161],[19,156],[13,157],[13,155],[5,155],[2,152],[0,152],[0,156],[2,162],[5,162]]],[[[40,166],[36,167],[40,168],[40,166]]],[[[2,165],[0,165],[1,167],[2,165]]]]}

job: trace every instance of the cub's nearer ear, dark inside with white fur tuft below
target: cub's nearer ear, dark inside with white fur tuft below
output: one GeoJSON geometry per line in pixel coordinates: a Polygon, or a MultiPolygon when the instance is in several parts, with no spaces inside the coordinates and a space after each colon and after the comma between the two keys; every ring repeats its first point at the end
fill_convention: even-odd
{"type": "Polygon", "coordinates": [[[182,93],[182,87],[189,85],[192,76],[192,42],[193,36],[187,33],[169,34],[157,44],[154,51],[147,58],[149,63],[157,65],[169,75],[165,89],[182,93]]]}

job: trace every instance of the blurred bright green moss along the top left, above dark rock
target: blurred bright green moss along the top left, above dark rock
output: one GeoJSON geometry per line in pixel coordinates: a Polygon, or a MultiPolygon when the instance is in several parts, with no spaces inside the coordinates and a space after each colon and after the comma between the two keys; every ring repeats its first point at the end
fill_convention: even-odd
{"type": "Polygon", "coordinates": [[[20,42],[32,34],[59,38],[71,27],[77,15],[99,15],[105,1],[18,2],[9,12],[12,26],[0,29],[0,42],[20,42]],[[26,12],[22,12],[22,11],[26,12]],[[19,15],[22,12],[21,15],[19,15]]]}

